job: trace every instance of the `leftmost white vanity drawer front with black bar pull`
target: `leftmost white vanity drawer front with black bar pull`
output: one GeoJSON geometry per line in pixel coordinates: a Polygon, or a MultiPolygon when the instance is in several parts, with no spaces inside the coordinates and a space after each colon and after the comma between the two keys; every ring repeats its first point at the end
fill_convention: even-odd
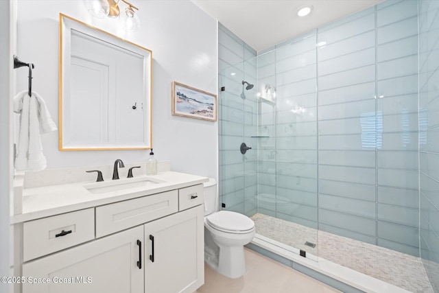
{"type": "Polygon", "coordinates": [[[25,222],[23,224],[23,261],[48,255],[94,238],[94,209],[73,211],[25,222]]]}

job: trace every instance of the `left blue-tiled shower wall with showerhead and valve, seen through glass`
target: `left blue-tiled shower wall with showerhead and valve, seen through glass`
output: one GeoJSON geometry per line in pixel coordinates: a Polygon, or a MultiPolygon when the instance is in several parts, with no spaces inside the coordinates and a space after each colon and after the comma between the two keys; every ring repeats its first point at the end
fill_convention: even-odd
{"type": "Polygon", "coordinates": [[[219,208],[248,216],[257,213],[256,82],[257,58],[219,73],[219,208]]]}

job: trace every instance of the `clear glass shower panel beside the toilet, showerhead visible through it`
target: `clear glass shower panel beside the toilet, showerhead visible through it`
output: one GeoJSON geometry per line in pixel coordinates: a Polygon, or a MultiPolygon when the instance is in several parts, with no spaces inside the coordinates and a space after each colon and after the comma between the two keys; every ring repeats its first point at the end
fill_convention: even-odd
{"type": "Polygon", "coordinates": [[[222,209],[252,218],[262,246],[317,260],[316,35],[224,69],[219,87],[222,209]]]}

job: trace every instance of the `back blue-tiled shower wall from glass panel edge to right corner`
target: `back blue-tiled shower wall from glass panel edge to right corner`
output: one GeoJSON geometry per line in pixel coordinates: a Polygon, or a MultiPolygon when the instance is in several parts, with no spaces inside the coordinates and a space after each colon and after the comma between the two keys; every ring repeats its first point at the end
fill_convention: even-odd
{"type": "Polygon", "coordinates": [[[319,227],[412,255],[417,15],[416,1],[381,3],[320,27],[317,42],[326,42],[317,49],[319,227]],[[349,224],[333,220],[346,217],[349,224]],[[383,233],[389,226],[391,237],[383,233]]]}

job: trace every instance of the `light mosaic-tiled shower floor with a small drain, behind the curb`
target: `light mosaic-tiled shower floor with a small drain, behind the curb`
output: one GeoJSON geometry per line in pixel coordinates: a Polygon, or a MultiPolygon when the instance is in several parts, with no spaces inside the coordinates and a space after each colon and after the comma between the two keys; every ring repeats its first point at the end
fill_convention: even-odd
{"type": "Polygon", "coordinates": [[[257,213],[252,216],[256,231],[294,248],[299,248],[391,283],[411,292],[433,292],[422,261],[418,257],[354,239],[317,231],[299,224],[257,213]],[[318,237],[318,242],[317,242],[318,237]],[[316,248],[304,243],[318,244],[316,248]]]}

